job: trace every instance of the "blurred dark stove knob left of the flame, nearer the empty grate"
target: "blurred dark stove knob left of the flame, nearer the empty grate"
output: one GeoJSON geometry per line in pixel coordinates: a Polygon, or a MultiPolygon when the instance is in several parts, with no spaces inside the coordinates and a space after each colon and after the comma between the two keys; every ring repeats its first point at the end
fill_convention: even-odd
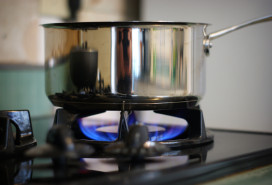
{"type": "Polygon", "coordinates": [[[47,134],[46,144],[26,151],[27,157],[79,159],[90,156],[91,146],[74,143],[71,129],[54,125],[47,134]]]}

